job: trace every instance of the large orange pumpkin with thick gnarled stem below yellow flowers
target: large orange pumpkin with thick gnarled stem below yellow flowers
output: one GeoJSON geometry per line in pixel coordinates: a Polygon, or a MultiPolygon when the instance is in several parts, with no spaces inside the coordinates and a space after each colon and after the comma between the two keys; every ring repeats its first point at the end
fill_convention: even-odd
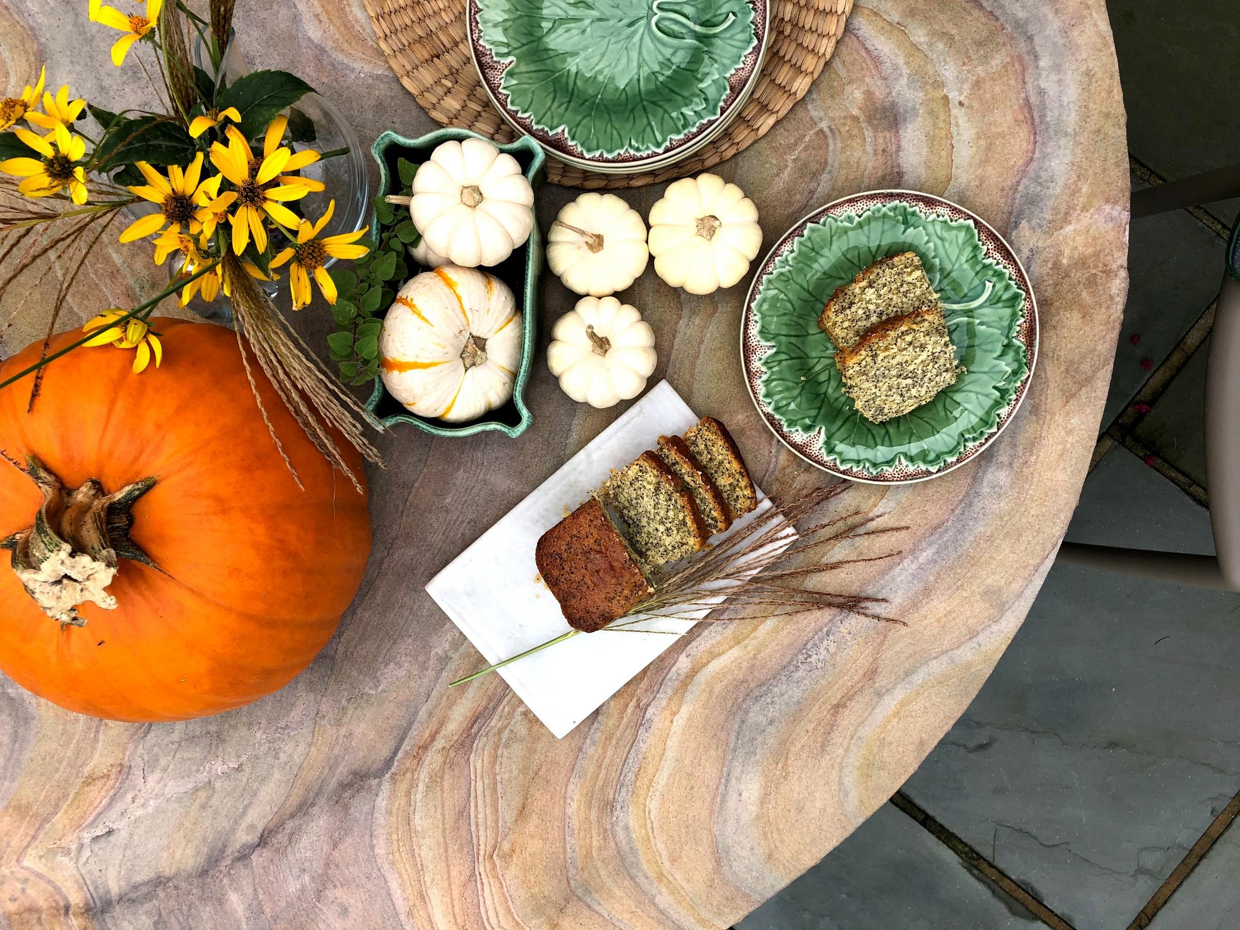
{"type": "MultiPolygon", "coordinates": [[[[332,470],[250,358],[298,487],[236,335],[151,326],[162,335],[160,368],[134,374],[130,351],[78,348],[45,368],[31,413],[31,377],[0,391],[0,539],[17,547],[14,564],[46,556],[48,538],[56,548],[56,537],[22,532],[42,513],[40,526],[61,527],[74,556],[94,559],[102,574],[82,585],[110,579],[98,600],[115,600],[52,619],[0,552],[0,670],[61,707],[117,720],[202,717],[284,686],[331,639],[371,546],[366,495],[332,470]],[[100,502],[123,489],[125,500],[100,502]]],[[[51,351],[79,336],[57,336],[51,351]]],[[[38,351],[0,365],[0,381],[38,351]]],[[[22,577],[45,594],[78,584],[22,577]]]]}

